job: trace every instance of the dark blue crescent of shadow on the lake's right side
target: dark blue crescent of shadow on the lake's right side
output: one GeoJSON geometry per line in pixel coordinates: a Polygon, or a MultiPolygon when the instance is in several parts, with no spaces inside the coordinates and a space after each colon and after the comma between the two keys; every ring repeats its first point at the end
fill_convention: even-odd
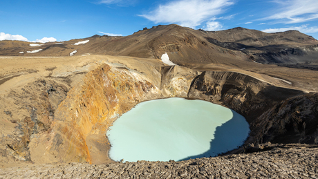
{"type": "Polygon", "coordinates": [[[211,140],[208,151],[182,160],[215,157],[219,153],[225,153],[241,146],[250,132],[249,125],[243,116],[235,111],[232,111],[232,113],[231,120],[225,122],[222,126],[216,127],[214,139],[211,140]]]}

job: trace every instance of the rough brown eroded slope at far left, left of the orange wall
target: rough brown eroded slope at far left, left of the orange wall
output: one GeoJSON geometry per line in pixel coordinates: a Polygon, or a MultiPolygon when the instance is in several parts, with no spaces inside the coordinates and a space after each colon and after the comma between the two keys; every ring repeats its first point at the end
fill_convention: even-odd
{"type": "Polygon", "coordinates": [[[68,93],[68,88],[53,80],[38,79],[24,88],[15,89],[1,99],[6,118],[15,124],[15,131],[1,138],[6,156],[30,160],[29,143],[37,135],[51,130],[55,111],[68,93]],[[13,109],[13,110],[12,110],[13,109]]]}

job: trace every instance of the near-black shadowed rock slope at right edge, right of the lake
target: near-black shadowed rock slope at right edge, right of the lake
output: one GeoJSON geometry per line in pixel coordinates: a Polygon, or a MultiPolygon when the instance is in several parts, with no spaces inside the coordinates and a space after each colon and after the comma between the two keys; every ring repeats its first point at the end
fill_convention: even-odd
{"type": "Polygon", "coordinates": [[[283,100],[251,123],[255,143],[318,143],[318,94],[283,100]]]}

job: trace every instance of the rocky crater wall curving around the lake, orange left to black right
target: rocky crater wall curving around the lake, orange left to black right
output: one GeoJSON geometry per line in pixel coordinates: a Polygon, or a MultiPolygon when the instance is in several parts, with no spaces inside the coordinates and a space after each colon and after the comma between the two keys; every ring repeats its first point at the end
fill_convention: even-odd
{"type": "Polygon", "coordinates": [[[17,129],[33,131],[17,135],[7,151],[37,163],[103,163],[109,160],[105,133],[113,121],[139,102],[165,97],[207,100],[245,116],[250,137],[234,152],[246,151],[251,144],[288,142],[286,138],[293,136],[298,136],[298,142],[317,143],[317,94],[305,95],[234,72],[199,72],[181,66],[147,70],[151,76],[123,64],[102,64],[72,88],[56,84],[42,89],[44,99],[39,102],[48,101],[47,107],[39,103],[37,122],[30,126],[26,121],[26,127],[17,129]],[[41,124],[46,127],[34,127],[41,124]],[[19,142],[23,139],[28,142],[19,142]]]}

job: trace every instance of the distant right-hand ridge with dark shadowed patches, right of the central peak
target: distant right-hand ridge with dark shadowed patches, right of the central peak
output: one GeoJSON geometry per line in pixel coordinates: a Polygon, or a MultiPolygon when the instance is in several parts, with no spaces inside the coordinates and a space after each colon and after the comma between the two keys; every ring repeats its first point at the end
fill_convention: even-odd
{"type": "Polygon", "coordinates": [[[241,50],[255,62],[317,68],[317,40],[296,30],[268,34],[258,30],[233,28],[206,33],[210,43],[241,50]]]}

